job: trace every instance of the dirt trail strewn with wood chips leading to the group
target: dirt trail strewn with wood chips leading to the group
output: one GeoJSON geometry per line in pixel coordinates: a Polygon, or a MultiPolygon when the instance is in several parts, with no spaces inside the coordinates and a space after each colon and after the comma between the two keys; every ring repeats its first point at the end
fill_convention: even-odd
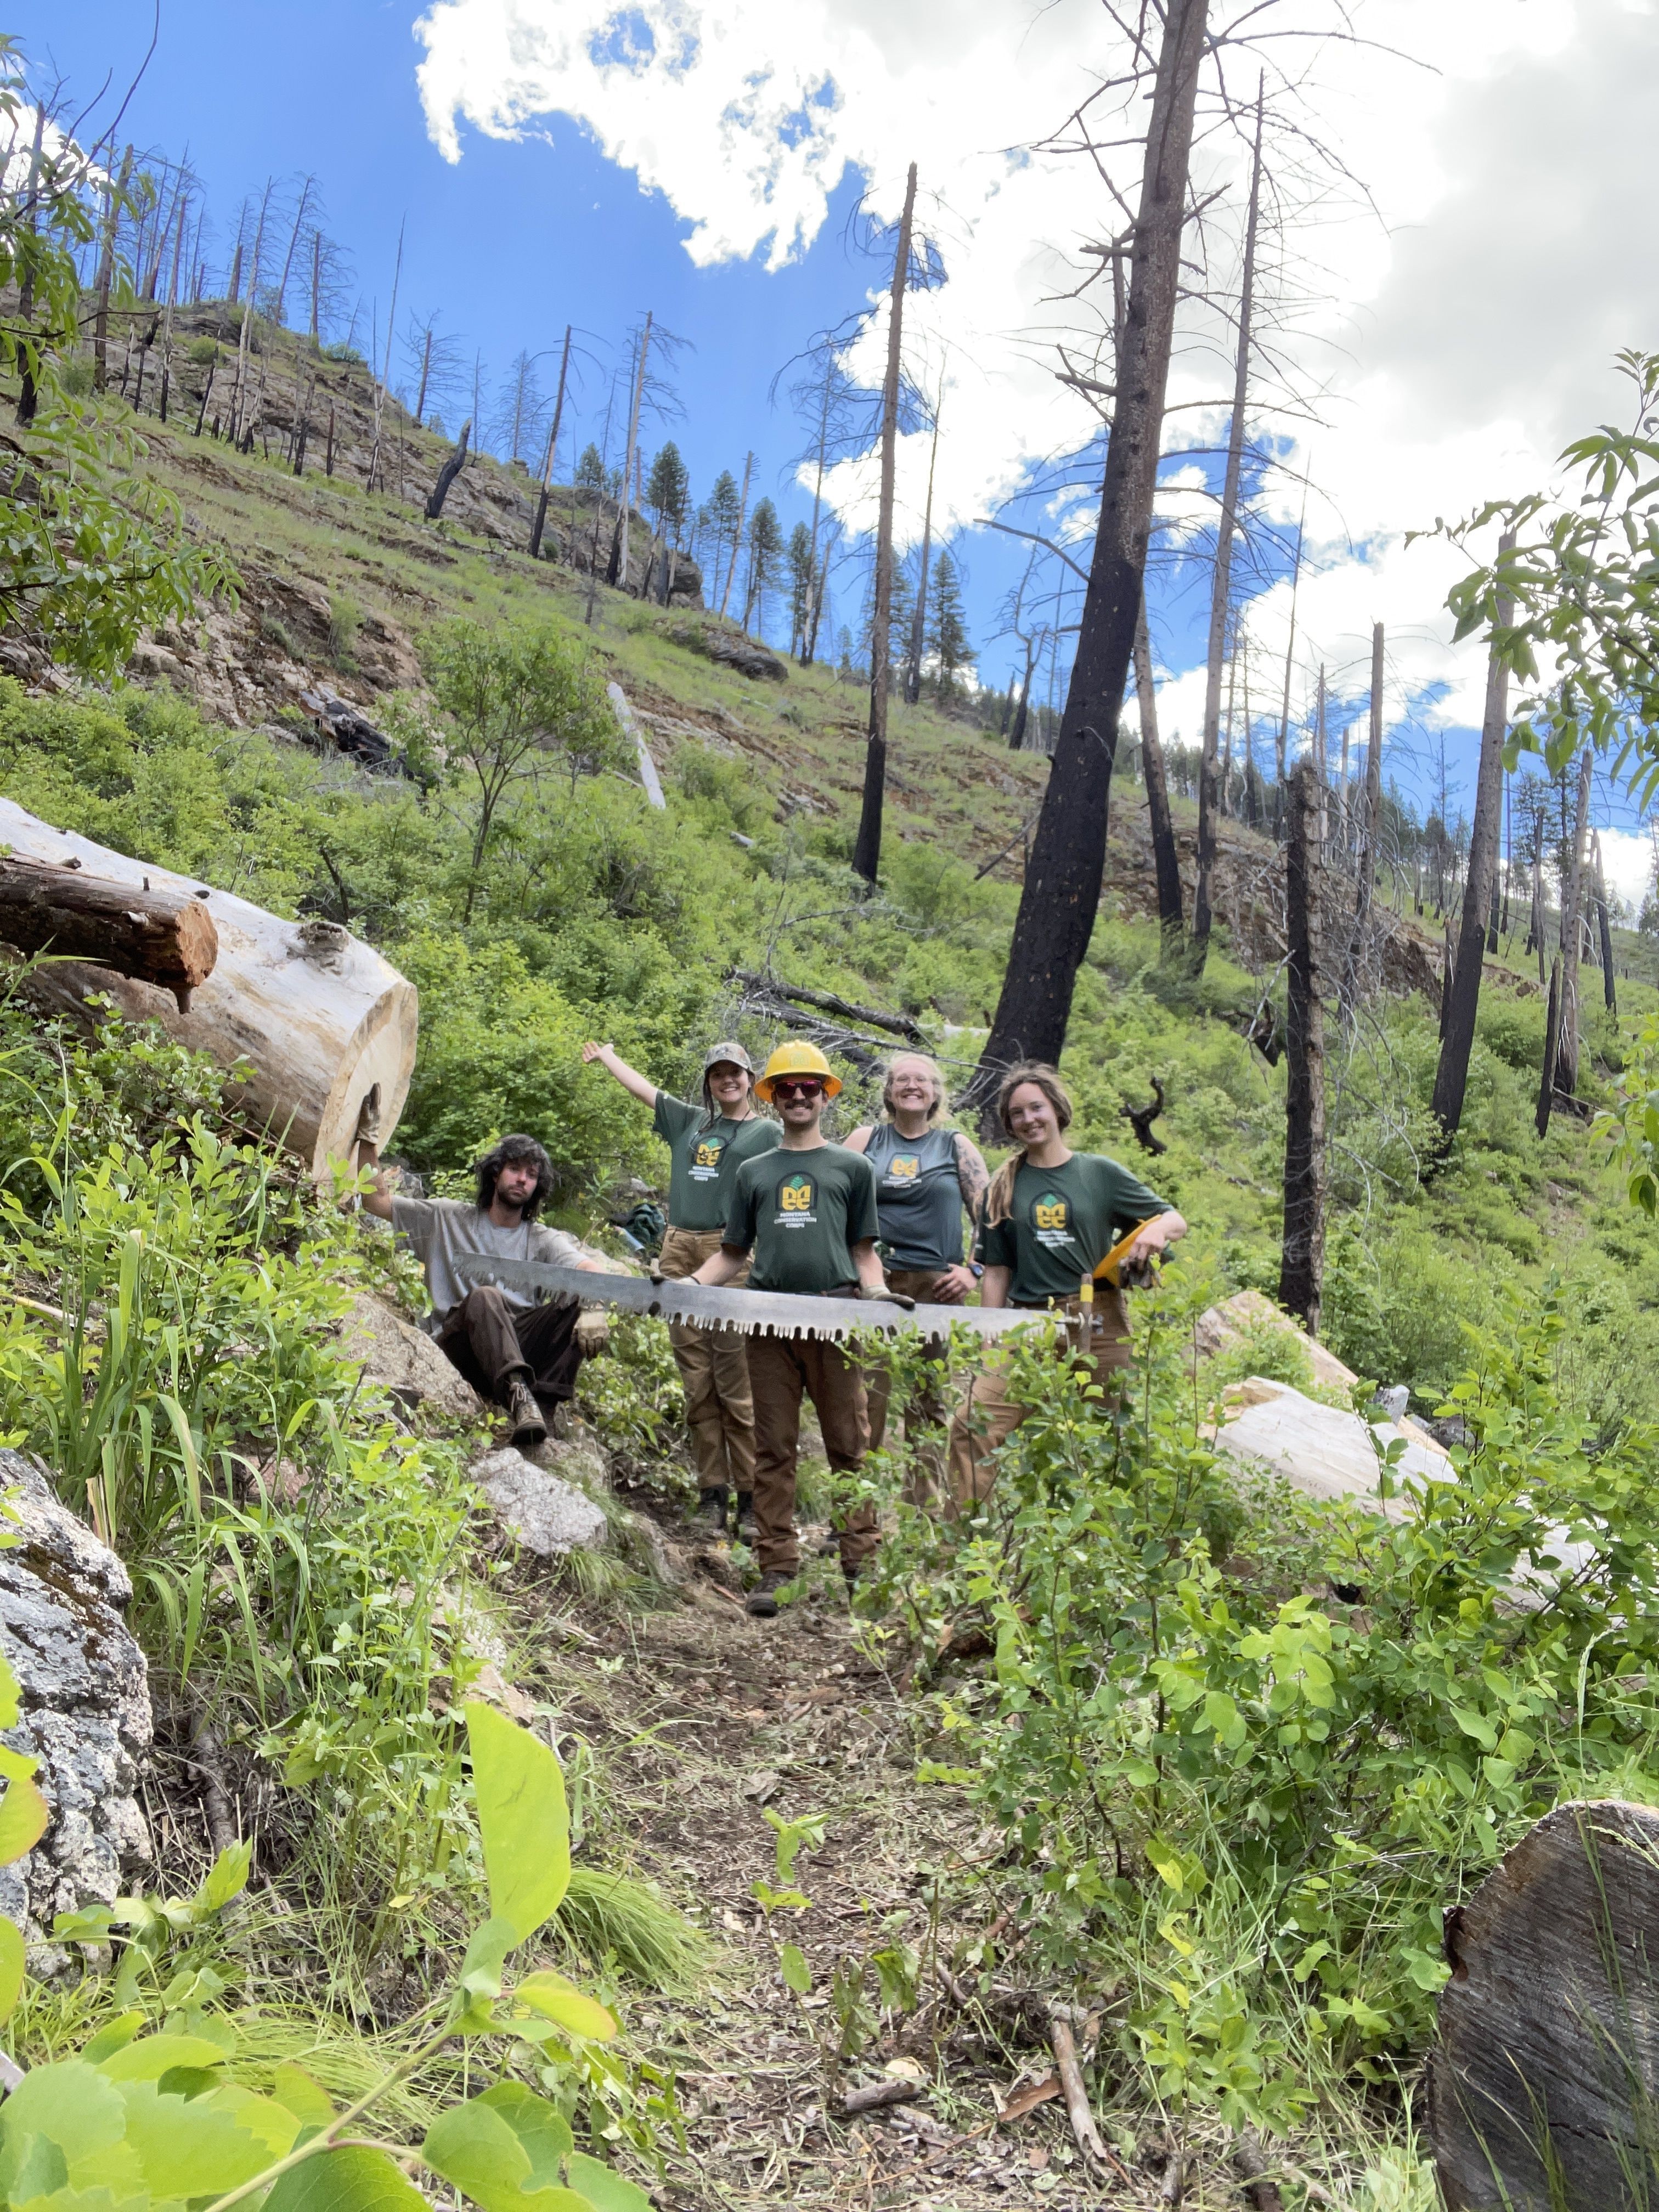
{"type": "MultiPolygon", "coordinates": [[[[805,1535],[807,1557],[818,1540],[805,1535]]],[[[936,1876],[960,1898],[964,1863],[989,1869],[998,1840],[975,1832],[953,1794],[916,1787],[916,1710],[860,1650],[834,1559],[816,1559],[805,1595],[770,1624],[697,1575],[672,1608],[624,1617],[582,1606],[573,1619],[586,1641],[551,1655],[535,1688],[602,1763],[615,1812],[604,1856],[628,1854],[717,1942],[695,2000],[628,2008],[635,2051],[675,2066],[688,2124],[690,2157],[659,2192],[664,2208],[1093,2212],[1161,2201],[1164,2137],[1144,2119],[1139,2146],[1119,2139],[1144,2161],[1126,2179],[1084,2170],[1060,2101],[998,2124],[993,2093],[1006,2101],[1046,2079],[1046,2044],[1020,2033],[1018,2006],[960,2006],[931,1971],[933,1953],[949,1962],[993,1911],[987,1902],[971,1920],[958,1907],[936,1924],[936,1876]],[[785,1820],[827,1816],[823,1847],[796,1863],[812,1905],[774,1911],[770,1931],[752,1893],[757,1880],[781,1887],[763,1807],[785,1820]],[[823,2046],[838,2039],[827,1995],[836,1964],[845,1978],[902,1940],[922,1955],[916,2004],[883,2013],[869,1964],[874,2033],[832,2084],[823,2046]],[[781,1942],[812,1966],[805,2000],[783,1984],[781,1942]],[[922,2084],[916,2101],[841,2117],[847,2088],[894,2066],[922,2084]]],[[[1018,1980],[1015,1966],[1002,1973],[1018,1980]]],[[[1214,2201],[1237,2194],[1223,2185],[1214,2201]]]]}

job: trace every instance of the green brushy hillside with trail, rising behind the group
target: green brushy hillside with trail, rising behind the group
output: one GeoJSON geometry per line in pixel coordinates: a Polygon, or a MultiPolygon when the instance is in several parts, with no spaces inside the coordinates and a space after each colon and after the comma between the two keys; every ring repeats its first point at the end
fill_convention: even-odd
{"type": "MultiPolygon", "coordinates": [[[[195,334],[215,336],[206,321],[195,334]]],[[[199,352],[197,403],[215,367],[199,352]]],[[[768,993],[787,984],[902,1013],[964,1075],[1046,763],[960,703],[894,703],[887,852],[867,896],[847,867],[856,681],[781,659],[745,677],[712,657],[734,626],[697,604],[695,571],[666,608],[595,584],[564,555],[588,557],[613,509],[584,515],[568,487],[551,502],[555,557],[529,560],[531,487],[489,460],[427,524],[418,502],[447,449],[396,411],[394,489],[365,491],[363,372],[312,367],[294,385],[312,425],[303,476],[276,374],[270,456],[197,438],[195,407],[168,427],[144,418],[148,469],[230,555],[241,599],[148,639],[113,695],[77,692],[27,639],[0,646],[0,790],[369,938],[422,1000],[392,1155],[460,1190],[493,1135],[529,1128],[557,1168],[557,1219],[611,1250],[664,1152],[646,1115],[582,1068],[584,1037],[690,1091],[714,1037],[772,1042],[768,993]],[[314,465],[325,405],[332,478],[314,465]],[[615,732],[584,723],[580,743],[529,754],[482,818],[465,732],[440,712],[434,641],[453,624],[551,633],[584,677],[584,714],[593,679],[619,684],[666,810],[615,732]],[[385,737],[385,765],[338,743],[325,692],[385,737]]],[[[1177,814],[1190,865],[1183,801],[1177,814]]],[[[1500,1520],[1593,1504],[1624,1542],[1648,1511],[1659,1254],[1586,1121],[1533,1135],[1542,1002],[1513,940],[1489,964],[1462,1137],[1431,1172],[1440,931],[1391,889],[1376,989],[1332,1051],[1325,1340],[1360,1376],[1405,1383],[1429,1418],[1453,1387],[1460,1422],[1491,1418],[1502,1480],[1486,1460],[1482,1482],[1502,1491],[1500,1520]]],[[[1044,1385],[1018,1480],[967,1537],[900,1502],[896,1444],[874,1478],[891,1535],[852,1613],[834,1557],[812,1548],[832,1504],[814,1455],[812,1557],[770,1626],[741,1613],[741,1551],[697,1542],[686,1520],[657,1323],[615,1329],[611,1358],[584,1369],[582,1422],[551,1447],[602,1502],[606,1544],[531,1559],[480,1509],[482,1418],[358,1391],[356,1369],[334,1367],[338,1301],[414,1310],[411,1272],[376,1228],[272,1164],[188,1055],[42,1037],[7,1002],[2,1133],[7,1157],[33,1164],[11,1217],[13,1287],[31,1303],[0,1345],[7,1420],[64,1482],[73,1469],[97,1484],[100,1467],[111,1480],[51,1316],[106,1329],[124,1312],[122,1252],[164,1254],[148,1365],[117,1407],[131,1482],[113,1522],[135,1562],[177,1858],[153,1880],[184,1896],[206,1871],[204,1763],[257,1832],[246,1920],[179,1938],[217,1989],[177,1995],[184,1982],[155,1975],[144,2002],[195,2020],[232,1989],[268,2073],[299,2059],[352,2097],[365,2048],[400,2053],[460,1958],[480,1858],[456,1708],[484,1694],[560,1750],[588,1878],[560,1955],[628,2031],[622,2059],[526,2042],[509,2070],[540,2079],[659,2205],[980,2212],[1082,2208],[1102,2188],[1124,2205],[1181,2188],[1223,2203],[1239,2130],[1259,2128],[1305,2201],[1425,2212],[1413,2097],[1440,1909],[1542,1805],[1637,1787],[1652,1705],[1628,1659],[1644,1630],[1597,1590],[1564,1608],[1559,1637],[1493,1610],[1491,1526],[1453,1520],[1469,1498],[1378,1533],[1219,1473],[1210,1383],[1310,1378],[1301,1345],[1252,1338],[1194,1383],[1199,1314],[1279,1274],[1283,876],[1239,823],[1217,905],[1203,975],[1159,967],[1144,794],[1119,776],[1064,1073],[1073,1141],[1126,1155],[1192,1221],[1146,1301],[1144,1402],[1119,1413],[1044,1385]],[[1164,1150],[1144,1157],[1124,1106],[1152,1082],[1164,1150]],[[177,1431],[155,1409],[186,1398],[175,1471],[177,1431]],[[1312,1690],[1285,1719],[1301,1697],[1285,1686],[1321,1679],[1305,1652],[1336,1681],[1336,1719],[1312,1690]],[[1562,1721],[1575,1697],[1577,1734],[1562,1721]],[[1480,1778],[1460,1728],[1482,1745],[1502,1732],[1480,1778]],[[1053,2006],[1084,2051],[1104,2172],[1051,2081],[1053,2006]],[[927,2095],[852,2115],[854,2079],[927,2095]]],[[[1590,1106],[1613,1095],[1628,1026],[1659,1006],[1641,982],[1619,991],[1619,1024],[1590,1029],[1590,1106]]],[[[872,1108],[876,1051],[852,1020],[836,1051],[845,1130],[872,1108]]],[[[157,1958],[170,1940],[157,1933],[157,1958]]],[[[93,1973],[75,1995],[42,1986],[20,2048],[38,2064],[117,2002],[93,1973]]],[[[420,2073],[403,2124],[422,2126],[456,2077],[420,2073]]]]}

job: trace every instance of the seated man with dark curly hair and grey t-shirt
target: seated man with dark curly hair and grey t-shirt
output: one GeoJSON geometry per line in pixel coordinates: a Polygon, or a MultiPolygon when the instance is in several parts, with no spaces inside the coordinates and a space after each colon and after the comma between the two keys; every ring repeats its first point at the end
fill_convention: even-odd
{"type": "MultiPolygon", "coordinates": [[[[374,1146],[363,1146],[358,1157],[365,1168],[378,1166],[374,1146]]],[[[582,1360],[604,1347],[606,1316],[577,1305],[535,1305],[529,1292],[495,1283],[467,1287],[456,1276],[456,1261],[487,1252],[604,1274],[597,1261],[582,1256],[575,1237],[535,1219],[551,1190],[553,1161],[535,1137],[502,1137],[478,1161],[476,1206],[400,1199],[385,1175],[363,1199],[367,1212],[407,1239],[425,1267],[438,1349],[480,1398],[507,1407],[520,1449],[546,1440],[546,1416],[575,1396],[582,1360]]]]}

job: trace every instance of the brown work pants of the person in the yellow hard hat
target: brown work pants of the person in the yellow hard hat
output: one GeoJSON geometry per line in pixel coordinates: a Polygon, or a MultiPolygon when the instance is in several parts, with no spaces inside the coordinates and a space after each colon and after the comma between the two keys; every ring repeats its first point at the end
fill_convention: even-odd
{"type": "MultiPolygon", "coordinates": [[[[823,1449],[838,1475],[858,1473],[869,1449],[865,1378],[841,1345],[816,1336],[750,1336],[754,1385],[754,1557],[763,1575],[801,1566],[794,1537],[794,1469],[801,1396],[812,1398],[823,1449]]],[[[836,1531],[841,1564],[858,1571],[880,1542],[876,1509],[854,1506],[836,1531]]]]}

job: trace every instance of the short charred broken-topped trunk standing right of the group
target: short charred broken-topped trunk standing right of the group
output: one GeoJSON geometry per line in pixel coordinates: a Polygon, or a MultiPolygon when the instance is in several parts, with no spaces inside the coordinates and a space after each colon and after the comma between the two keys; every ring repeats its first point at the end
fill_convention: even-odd
{"type": "Polygon", "coordinates": [[[1310,754],[1287,792],[1285,847],[1285,1241],[1279,1303],[1318,1336],[1325,1283],[1325,956],[1321,938],[1321,781],[1310,754]]]}

